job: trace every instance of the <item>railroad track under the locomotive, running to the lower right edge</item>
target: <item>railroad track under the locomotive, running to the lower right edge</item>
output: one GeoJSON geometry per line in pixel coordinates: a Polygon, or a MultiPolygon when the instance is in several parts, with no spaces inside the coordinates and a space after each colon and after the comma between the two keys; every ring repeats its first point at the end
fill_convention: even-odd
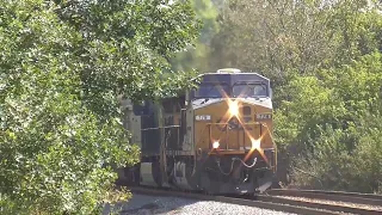
{"type": "Polygon", "coordinates": [[[347,192],[299,191],[286,189],[275,189],[267,192],[267,194],[265,195],[256,195],[254,197],[229,197],[222,195],[206,195],[195,192],[181,192],[168,189],[153,189],[149,187],[131,187],[131,191],[147,195],[176,196],[188,199],[219,201],[231,204],[247,205],[307,215],[338,215],[344,213],[382,215],[382,204],[380,204],[380,201],[382,201],[382,196],[380,195],[347,192]],[[306,200],[286,198],[290,196],[302,197],[306,198],[306,200]],[[330,199],[332,201],[350,202],[352,204],[374,205],[375,208],[362,208],[349,205],[328,204],[312,201],[312,199],[330,199]],[[365,204],[366,200],[370,200],[372,204],[370,204],[370,202],[365,204]]]}

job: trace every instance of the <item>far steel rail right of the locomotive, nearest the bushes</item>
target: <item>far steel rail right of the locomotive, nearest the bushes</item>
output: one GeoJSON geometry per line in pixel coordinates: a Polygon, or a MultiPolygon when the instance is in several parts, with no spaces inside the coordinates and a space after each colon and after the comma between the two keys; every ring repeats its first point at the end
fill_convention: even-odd
{"type": "MultiPolygon", "coordinates": [[[[298,190],[298,189],[272,189],[269,195],[305,197],[310,199],[324,199],[340,202],[351,202],[366,205],[382,205],[382,195],[364,194],[342,191],[298,190]]],[[[382,212],[381,212],[382,213],[382,212]]]]}

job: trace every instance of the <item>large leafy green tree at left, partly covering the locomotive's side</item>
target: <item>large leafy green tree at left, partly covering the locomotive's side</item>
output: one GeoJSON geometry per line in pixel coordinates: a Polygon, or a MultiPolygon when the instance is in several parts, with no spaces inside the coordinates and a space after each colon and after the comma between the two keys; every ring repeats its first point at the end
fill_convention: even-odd
{"type": "Polygon", "coordinates": [[[187,86],[167,59],[198,28],[187,2],[0,2],[1,211],[89,214],[126,199],[109,164],[134,165],[139,149],[118,96],[187,86]]]}

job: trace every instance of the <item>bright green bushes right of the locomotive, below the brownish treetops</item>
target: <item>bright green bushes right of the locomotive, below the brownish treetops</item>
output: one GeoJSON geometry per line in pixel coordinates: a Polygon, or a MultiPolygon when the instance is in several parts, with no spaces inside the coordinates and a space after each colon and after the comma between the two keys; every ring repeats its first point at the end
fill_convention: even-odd
{"type": "Polygon", "coordinates": [[[277,111],[280,146],[297,155],[295,183],[381,192],[382,55],[317,75],[294,78],[277,111]]]}

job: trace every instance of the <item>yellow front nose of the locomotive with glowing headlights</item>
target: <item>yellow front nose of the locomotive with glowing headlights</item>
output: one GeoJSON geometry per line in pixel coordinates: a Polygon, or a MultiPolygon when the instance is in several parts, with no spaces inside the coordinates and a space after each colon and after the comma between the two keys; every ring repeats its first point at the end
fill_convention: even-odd
{"type": "Polygon", "coordinates": [[[261,124],[254,121],[253,109],[240,99],[225,99],[206,108],[203,114],[195,117],[197,127],[201,128],[200,138],[209,140],[210,150],[223,153],[237,150],[241,154],[251,148],[259,148],[261,124]]]}

